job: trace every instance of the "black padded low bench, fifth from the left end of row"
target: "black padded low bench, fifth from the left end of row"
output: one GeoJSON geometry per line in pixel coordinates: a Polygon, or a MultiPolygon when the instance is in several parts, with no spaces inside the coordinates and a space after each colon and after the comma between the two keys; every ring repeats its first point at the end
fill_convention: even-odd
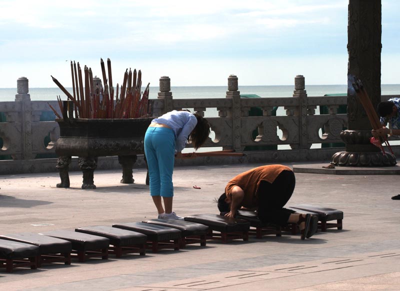
{"type": "Polygon", "coordinates": [[[128,222],[113,224],[112,227],[136,231],[147,235],[147,248],[158,252],[163,248],[179,249],[180,230],[172,227],[144,222],[128,222]]]}

